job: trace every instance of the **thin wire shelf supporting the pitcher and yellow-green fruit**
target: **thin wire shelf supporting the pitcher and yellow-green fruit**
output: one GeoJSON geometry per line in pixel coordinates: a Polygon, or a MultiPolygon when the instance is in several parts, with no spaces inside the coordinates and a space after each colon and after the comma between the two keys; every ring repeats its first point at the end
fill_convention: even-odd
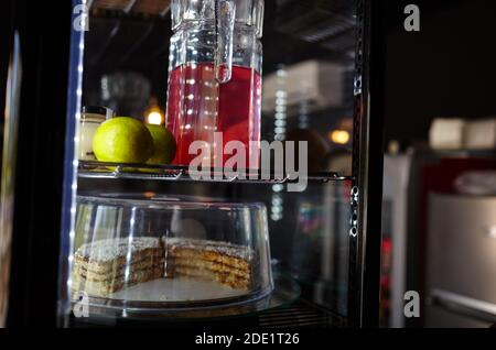
{"type": "MultiPolygon", "coordinates": [[[[78,162],[79,178],[96,179],[153,179],[153,181],[201,181],[214,183],[250,183],[250,184],[287,184],[298,183],[290,174],[277,176],[261,171],[239,169],[234,174],[226,174],[219,168],[203,169],[201,179],[193,176],[187,166],[121,164],[97,161],[78,162]],[[206,176],[205,176],[206,175],[206,176]]],[[[308,182],[328,183],[331,181],[352,181],[352,176],[342,176],[333,172],[312,172],[305,178],[308,182]]],[[[301,178],[300,178],[301,181],[301,178]]]]}

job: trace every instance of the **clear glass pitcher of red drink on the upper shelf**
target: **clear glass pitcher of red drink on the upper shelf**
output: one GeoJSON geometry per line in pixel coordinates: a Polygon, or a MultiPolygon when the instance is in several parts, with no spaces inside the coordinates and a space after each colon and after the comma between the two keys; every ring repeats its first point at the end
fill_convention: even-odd
{"type": "Polygon", "coordinates": [[[259,167],[262,22],[263,0],[172,1],[166,121],[174,164],[190,165],[198,156],[190,154],[192,142],[203,141],[209,152],[202,164],[222,167],[231,157],[223,146],[238,141],[238,168],[259,167]]]}

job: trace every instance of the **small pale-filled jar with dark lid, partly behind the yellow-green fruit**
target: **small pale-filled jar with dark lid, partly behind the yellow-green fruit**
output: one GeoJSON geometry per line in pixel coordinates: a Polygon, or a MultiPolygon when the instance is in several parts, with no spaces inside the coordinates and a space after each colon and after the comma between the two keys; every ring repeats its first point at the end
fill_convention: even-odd
{"type": "Polygon", "coordinates": [[[79,145],[77,156],[79,161],[96,161],[93,152],[93,139],[98,127],[114,117],[114,111],[106,107],[85,106],[79,121],[79,145]]]}

